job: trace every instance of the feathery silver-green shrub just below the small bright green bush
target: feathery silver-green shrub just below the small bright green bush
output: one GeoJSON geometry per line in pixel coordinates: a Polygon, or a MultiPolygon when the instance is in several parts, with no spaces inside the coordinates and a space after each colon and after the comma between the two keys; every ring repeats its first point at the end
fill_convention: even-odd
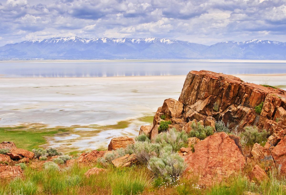
{"type": "Polygon", "coordinates": [[[184,131],[178,132],[175,128],[169,129],[168,132],[162,132],[154,138],[154,142],[160,144],[161,147],[167,144],[172,146],[174,152],[179,151],[186,144],[187,140],[187,134],[184,131]]]}

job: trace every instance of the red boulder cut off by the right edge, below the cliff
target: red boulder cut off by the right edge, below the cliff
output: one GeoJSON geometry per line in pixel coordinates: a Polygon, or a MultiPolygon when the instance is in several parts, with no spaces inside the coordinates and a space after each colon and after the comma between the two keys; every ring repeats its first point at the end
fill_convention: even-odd
{"type": "Polygon", "coordinates": [[[281,173],[286,174],[286,136],[271,151],[277,167],[280,167],[281,173]]]}

